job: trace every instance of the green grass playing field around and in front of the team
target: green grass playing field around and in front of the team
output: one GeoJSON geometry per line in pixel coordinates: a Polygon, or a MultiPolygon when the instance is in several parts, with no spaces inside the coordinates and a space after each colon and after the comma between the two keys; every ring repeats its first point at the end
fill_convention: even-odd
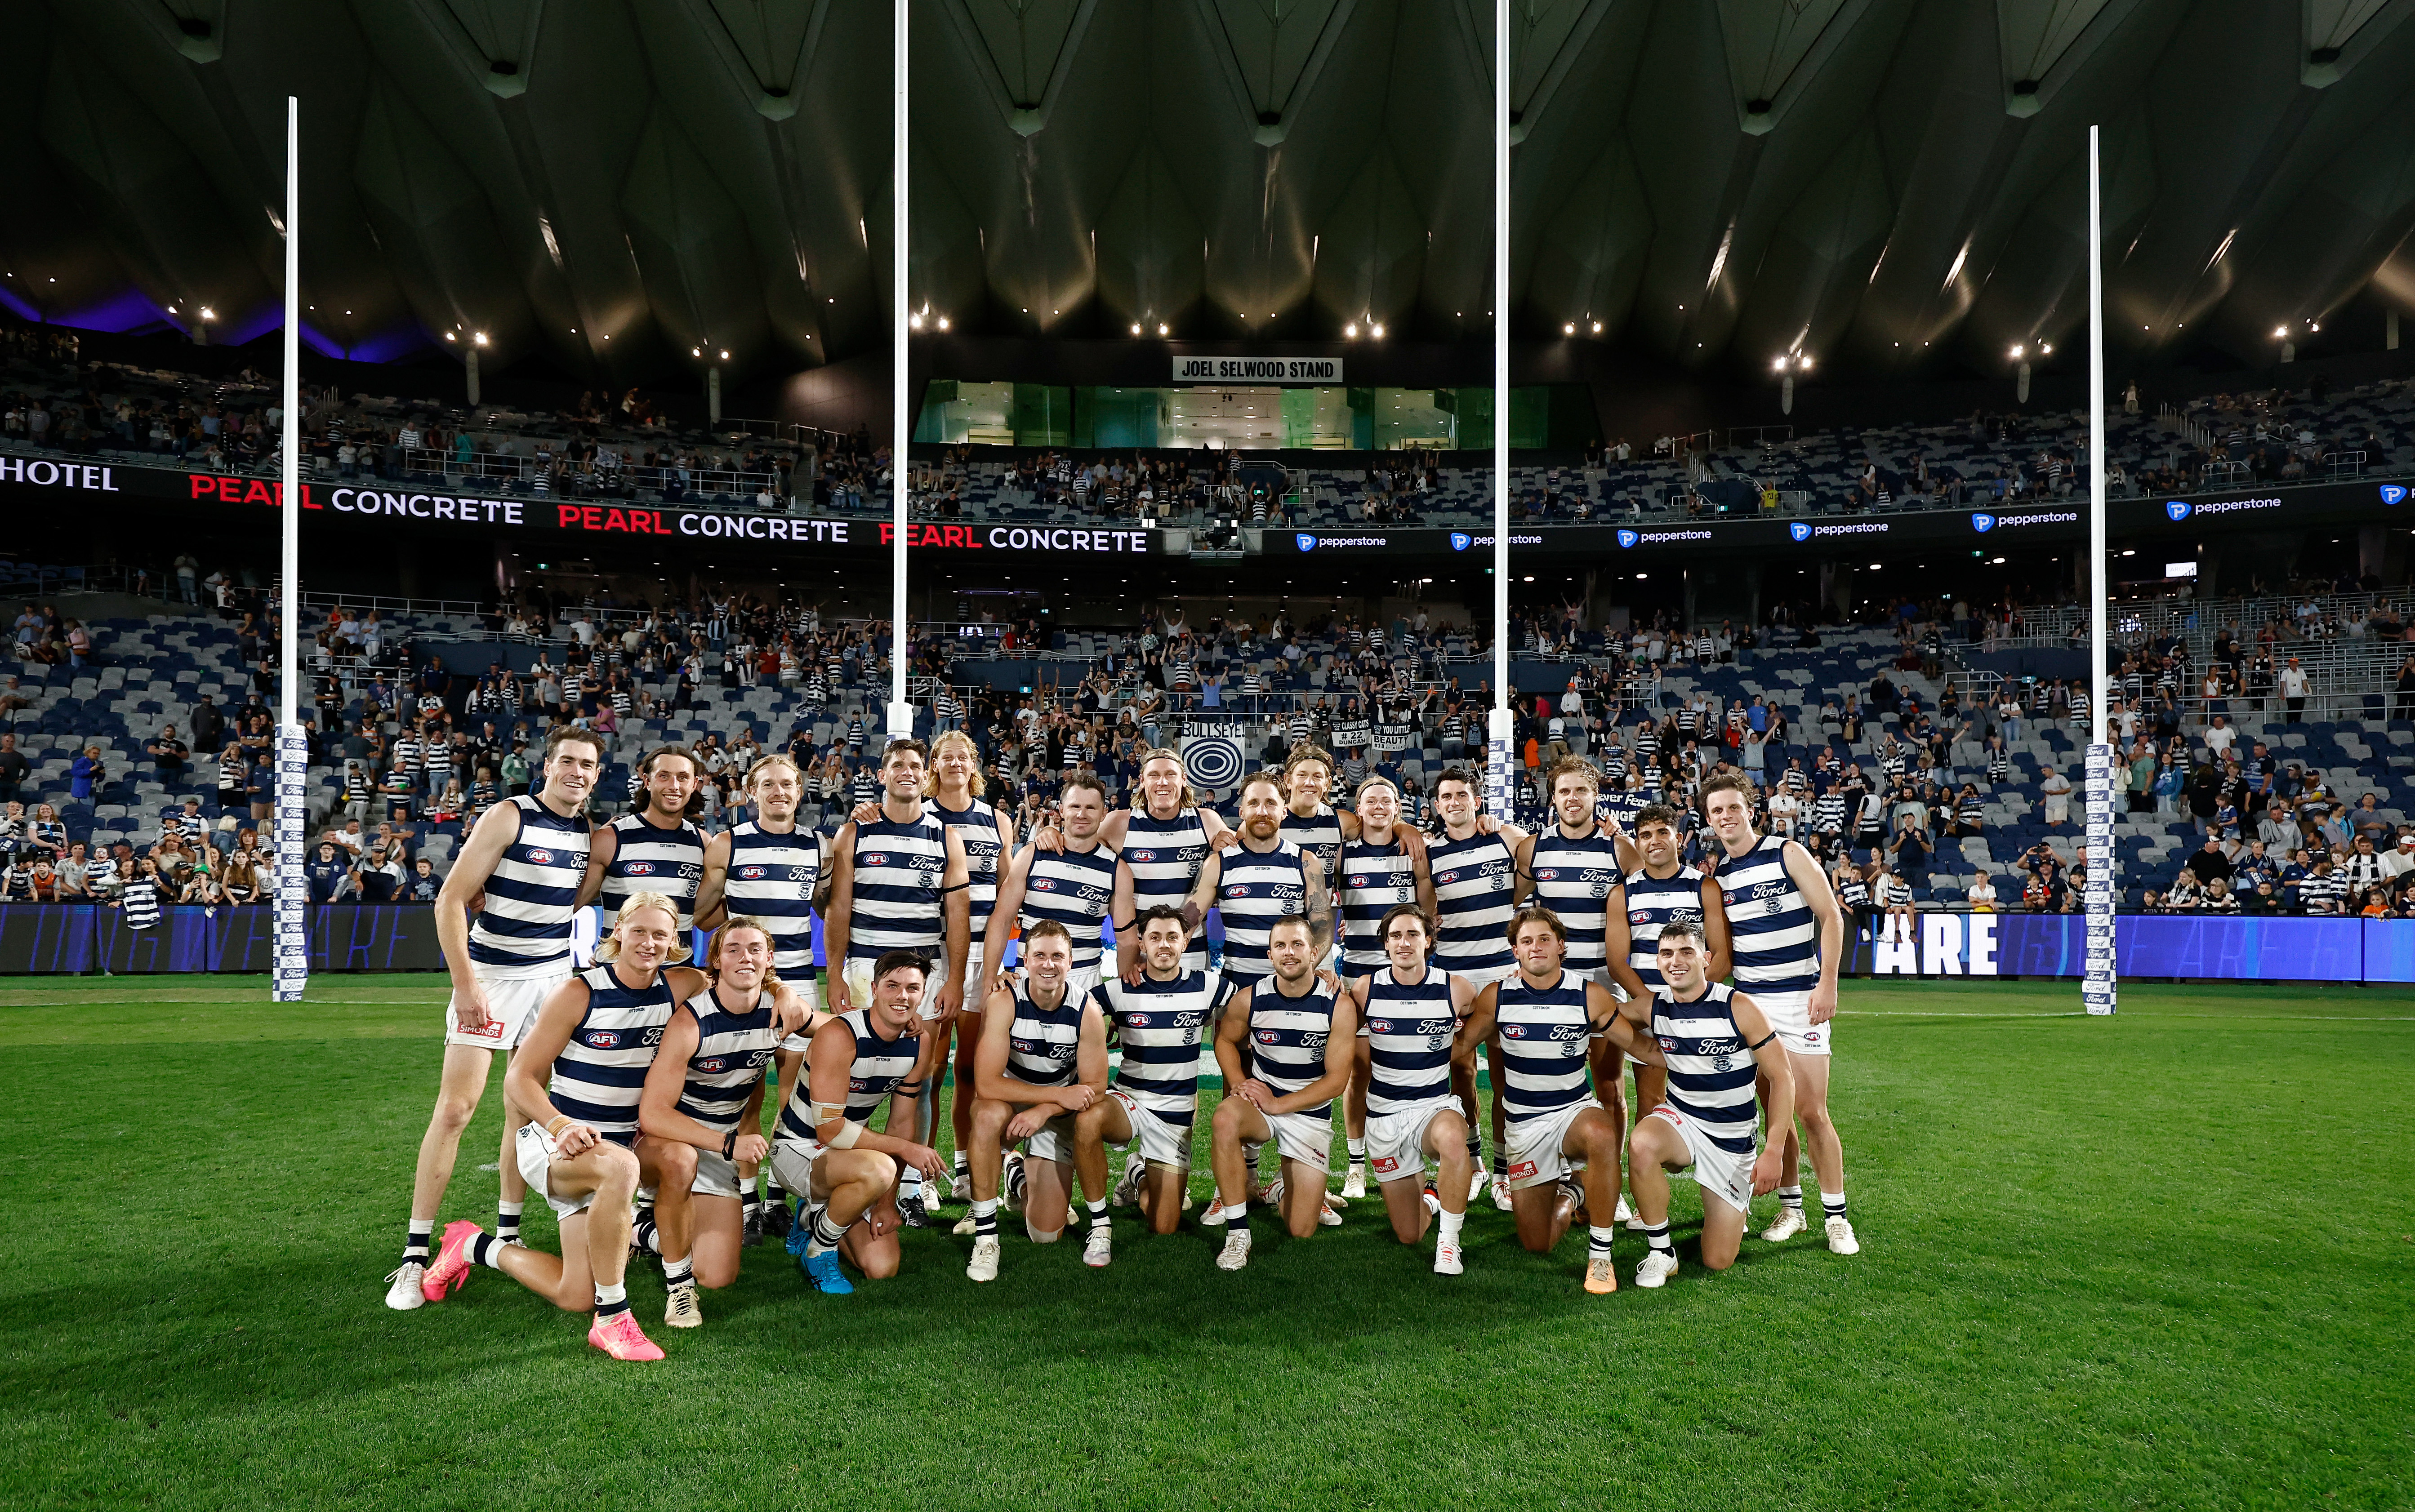
{"type": "MultiPolygon", "coordinates": [[[[693,1336],[633,1268],[652,1367],[493,1270],[382,1307],[442,1000],[0,985],[0,1505],[2415,1502],[2410,995],[1847,983],[1850,1261],[1707,1275],[1686,1184],[1686,1270],[1625,1285],[1623,1234],[1613,1297],[1490,1208],[1456,1280],[1379,1203],[1239,1275],[1215,1229],[1118,1222],[1094,1273],[1007,1225],[990,1287],[937,1229],[816,1297],[768,1244],[693,1336]]],[[[447,1217],[493,1222],[500,1106],[447,1217]]]]}

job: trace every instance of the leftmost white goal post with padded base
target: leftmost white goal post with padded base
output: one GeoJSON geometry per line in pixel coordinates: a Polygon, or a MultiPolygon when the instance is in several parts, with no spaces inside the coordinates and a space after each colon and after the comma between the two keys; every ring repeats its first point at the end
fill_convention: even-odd
{"type": "MultiPolygon", "coordinates": [[[[285,97],[285,420],[278,536],[278,947],[268,995],[299,1002],[309,985],[309,882],[302,872],[309,737],[302,732],[302,101],[285,97]]],[[[478,341],[485,341],[483,336],[478,341]]]]}

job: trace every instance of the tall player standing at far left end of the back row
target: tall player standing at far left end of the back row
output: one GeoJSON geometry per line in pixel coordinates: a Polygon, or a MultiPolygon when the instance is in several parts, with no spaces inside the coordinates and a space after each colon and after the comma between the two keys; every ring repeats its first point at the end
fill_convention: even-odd
{"type": "MultiPolygon", "coordinates": [[[[420,1162],[411,1179],[411,1234],[403,1263],[386,1278],[386,1307],[425,1304],[437,1210],[452,1184],[461,1130],[478,1113],[495,1051],[510,1056],[536,1024],[553,990],[570,981],[570,920],[580,911],[587,877],[587,795],[604,770],[604,742],[587,729],[558,727],[546,739],[543,787],[495,804],[471,828],[461,860],[437,894],[437,944],[452,971],[444,1007],[444,1072],[437,1106],[420,1138],[420,1162]],[[481,899],[476,923],[469,915],[481,899]]],[[[495,1239],[519,1241],[519,1210],[529,1196],[519,1176],[519,1126],[524,1118],[505,1099],[502,1198],[495,1239]]]]}

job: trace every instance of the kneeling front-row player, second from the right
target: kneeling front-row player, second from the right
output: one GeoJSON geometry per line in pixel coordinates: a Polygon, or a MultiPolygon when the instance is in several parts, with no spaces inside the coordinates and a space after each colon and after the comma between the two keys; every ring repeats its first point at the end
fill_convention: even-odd
{"type": "Polygon", "coordinates": [[[1618,1017],[1608,988],[1560,969],[1567,930],[1558,913],[1519,908],[1507,932],[1517,973],[1478,993],[1454,1056],[1473,1063],[1488,1039],[1500,1051],[1492,1094],[1507,1111],[1502,1142],[1517,1241],[1546,1254],[1582,1215],[1591,1237],[1584,1290],[1616,1292],[1618,1126],[1587,1087],[1587,1046],[1608,1034],[1647,1065],[1659,1065],[1662,1053],[1618,1017]]]}

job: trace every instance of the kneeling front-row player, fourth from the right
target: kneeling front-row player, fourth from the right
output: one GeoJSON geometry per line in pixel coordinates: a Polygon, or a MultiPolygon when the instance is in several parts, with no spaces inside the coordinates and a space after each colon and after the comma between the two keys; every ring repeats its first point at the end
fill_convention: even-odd
{"type": "Polygon", "coordinates": [[[1331,1212],[1333,1099],[1350,1084],[1357,1014],[1319,981],[1316,956],[1304,915],[1275,920],[1265,935],[1273,976],[1236,995],[1215,1031],[1215,1063],[1224,1072],[1224,1101],[1210,1121],[1224,1212],[1220,1270],[1249,1263],[1249,1179],[1268,1140],[1282,1152],[1282,1176],[1265,1200],[1282,1212],[1292,1239],[1314,1234],[1331,1212]]]}

